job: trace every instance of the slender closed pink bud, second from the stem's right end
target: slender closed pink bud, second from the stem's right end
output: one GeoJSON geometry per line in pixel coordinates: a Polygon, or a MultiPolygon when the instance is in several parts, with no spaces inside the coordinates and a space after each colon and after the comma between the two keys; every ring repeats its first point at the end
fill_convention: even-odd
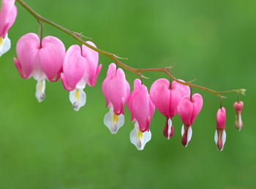
{"type": "Polygon", "coordinates": [[[225,122],[226,122],[226,109],[225,107],[219,108],[217,112],[217,129],[215,131],[214,140],[217,144],[219,151],[223,150],[224,144],[226,142],[226,131],[225,131],[225,122]]]}

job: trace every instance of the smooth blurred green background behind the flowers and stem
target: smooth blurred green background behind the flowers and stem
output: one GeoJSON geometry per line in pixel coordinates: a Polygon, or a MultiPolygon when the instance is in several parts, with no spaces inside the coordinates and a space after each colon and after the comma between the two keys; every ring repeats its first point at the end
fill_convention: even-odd
{"type": "MultiPolygon", "coordinates": [[[[103,125],[108,112],[101,84],[110,59],[99,58],[102,72],[87,103],[72,109],[61,82],[46,83],[46,99],[35,99],[33,79],[23,80],[12,63],[15,43],[38,32],[37,21],[18,3],[18,18],[9,31],[12,49],[0,59],[0,188],[256,188],[255,47],[256,1],[185,0],[26,0],[37,12],[73,31],[93,37],[97,47],[129,58],[136,68],[170,66],[184,80],[227,90],[246,88],[236,131],[233,103],[227,109],[227,141],[220,153],[214,143],[219,99],[203,95],[192,141],[181,145],[181,120],[173,118],[172,139],[162,136],[165,117],[151,121],[152,139],[139,152],[129,142],[134,127],[126,123],[111,135],[103,125]]],[[[77,44],[45,24],[45,36],[58,36],[68,48],[77,44]]],[[[131,88],[136,75],[126,72],[131,88]]],[[[148,88],[162,73],[146,73],[148,88]]]]}

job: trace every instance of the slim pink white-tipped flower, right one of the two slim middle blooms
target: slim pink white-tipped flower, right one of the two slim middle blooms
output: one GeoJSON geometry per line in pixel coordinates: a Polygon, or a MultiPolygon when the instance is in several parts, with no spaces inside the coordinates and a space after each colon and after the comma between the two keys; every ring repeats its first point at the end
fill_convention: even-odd
{"type": "Polygon", "coordinates": [[[127,101],[127,107],[135,121],[135,128],[131,131],[129,139],[138,150],[143,150],[145,144],[151,140],[151,131],[148,127],[154,115],[154,104],[148,94],[148,88],[140,80],[134,82],[134,89],[127,101]]]}

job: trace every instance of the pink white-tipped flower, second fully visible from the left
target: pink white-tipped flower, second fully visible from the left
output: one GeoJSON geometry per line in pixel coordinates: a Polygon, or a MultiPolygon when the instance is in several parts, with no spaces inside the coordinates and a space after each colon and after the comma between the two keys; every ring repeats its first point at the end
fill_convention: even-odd
{"type": "MultiPolygon", "coordinates": [[[[86,42],[94,46],[93,42],[86,42]]],[[[82,49],[78,45],[72,45],[67,50],[64,58],[61,81],[66,90],[69,90],[69,100],[78,111],[86,104],[86,93],[83,91],[86,85],[93,87],[96,83],[102,65],[98,66],[99,54],[86,45],[82,49]]]]}

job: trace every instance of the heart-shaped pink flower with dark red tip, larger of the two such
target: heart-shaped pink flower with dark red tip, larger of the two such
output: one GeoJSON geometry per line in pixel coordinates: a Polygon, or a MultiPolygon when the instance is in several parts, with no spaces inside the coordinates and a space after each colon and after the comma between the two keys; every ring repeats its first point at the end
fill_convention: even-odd
{"type": "MultiPolygon", "coordinates": [[[[182,80],[181,80],[182,81],[182,80]]],[[[156,80],[150,88],[150,97],[159,112],[166,117],[164,136],[170,139],[173,136],[172,118],[177,114],[178,102],[184,96],[190,96],[189,87],[164,78],[156,80]]]]}

